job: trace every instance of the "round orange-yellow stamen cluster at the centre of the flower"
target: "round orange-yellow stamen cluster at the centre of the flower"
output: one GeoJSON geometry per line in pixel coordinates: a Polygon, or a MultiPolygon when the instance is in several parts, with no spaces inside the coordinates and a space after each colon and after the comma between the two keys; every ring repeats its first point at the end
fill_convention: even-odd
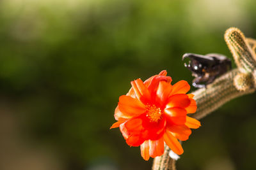
{"type": "Polygon", "coordinates": [[[147,104],[147,117],[149,118],[149,122],[158,122],[161,119],[162,110],[157,108],[155,104],[147,104]]]}

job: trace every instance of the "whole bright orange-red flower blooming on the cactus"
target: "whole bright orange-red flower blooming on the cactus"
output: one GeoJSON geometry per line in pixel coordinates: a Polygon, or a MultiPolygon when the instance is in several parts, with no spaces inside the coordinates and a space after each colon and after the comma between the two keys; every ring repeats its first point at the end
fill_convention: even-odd
{"type": "Polygon", "coordinates": [[[119,97],[115,110],[118,122],[111,126],[120,127],[128,145],[140,146],[145,160],[163,155],[164,143],[182,154],[178,139],[186,141],[190,128],[200,127],[198,120],[187,116],[196,111],[193,94],[186,94],[188,82],[181,80],[171,85],[172,78],[166,74],[161,71],[144,83],[140,79],[131,81],[132,88],[119,97]]]}

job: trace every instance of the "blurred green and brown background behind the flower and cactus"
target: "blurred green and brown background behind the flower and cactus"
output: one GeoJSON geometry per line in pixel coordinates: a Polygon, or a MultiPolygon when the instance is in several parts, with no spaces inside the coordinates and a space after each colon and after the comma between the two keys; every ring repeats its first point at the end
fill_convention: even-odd
{"type": "MultiPolygon", "coordinates": [[[[150,169],[113,113],[130,81],[193,77],[186,52],[231,54],[228,27],[256,38],[254,0],[1,0],[0,169],[150,169]]],[[[233,62],[234,66],[234,62],[233,62]]],[[[195,89],[191,89],[195,90],[195,89]]],[[[202,119],[178,169],[256,169],[256,94],[202,119]]]]}

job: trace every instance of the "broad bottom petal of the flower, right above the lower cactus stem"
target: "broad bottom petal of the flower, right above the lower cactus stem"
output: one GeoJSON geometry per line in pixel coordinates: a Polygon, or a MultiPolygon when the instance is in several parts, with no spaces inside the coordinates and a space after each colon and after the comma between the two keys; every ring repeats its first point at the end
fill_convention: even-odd
{"type": "Polygon", "coordinates": [[[163,137],[156,141],[149,140],[149,155],[150,155],[150,157],[152,157],[152,158],[158,157],[158,156],[163,155],[163,153],[164,153],[163,137]]]}

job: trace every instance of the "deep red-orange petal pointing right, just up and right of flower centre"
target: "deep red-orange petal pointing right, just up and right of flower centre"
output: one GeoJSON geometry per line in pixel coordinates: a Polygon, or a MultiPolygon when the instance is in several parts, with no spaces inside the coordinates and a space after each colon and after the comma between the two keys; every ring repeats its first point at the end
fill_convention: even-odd
{"type": "Polygon", "coordinates": [[[175,94],[170,96],[166,108],[186,108],[190,104],[189,98],[186,94],[175,94]]]}

